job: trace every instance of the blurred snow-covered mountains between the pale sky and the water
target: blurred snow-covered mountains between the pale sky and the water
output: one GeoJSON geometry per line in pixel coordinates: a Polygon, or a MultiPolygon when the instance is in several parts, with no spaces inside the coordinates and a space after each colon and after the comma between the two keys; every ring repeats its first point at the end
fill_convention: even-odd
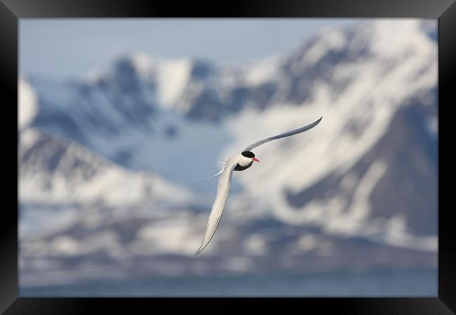
{"type": "Polygon", "coordinates": [[[242,67],[132,54],[80,81],[25,73],[21,281],[43,280],[40,268],[74,281],[435,267],[435,34],[432,21],[378,20],[242,67]],[[216,186],[197,182],[321,116],[255,149],[261,165],[234,174],[223,222],[193,258],[216,186]],[[34,227],[49,217],[56,228],[34,227]]]}

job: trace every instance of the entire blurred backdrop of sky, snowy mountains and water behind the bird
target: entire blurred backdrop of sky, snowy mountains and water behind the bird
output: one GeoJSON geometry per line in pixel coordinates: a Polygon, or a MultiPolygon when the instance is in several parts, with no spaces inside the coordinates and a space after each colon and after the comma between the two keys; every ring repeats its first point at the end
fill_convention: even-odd
{"type": "Polygon", "coordinates": [[[436,296],[436,27],[20,20],[20,295],[436,296]]]}

